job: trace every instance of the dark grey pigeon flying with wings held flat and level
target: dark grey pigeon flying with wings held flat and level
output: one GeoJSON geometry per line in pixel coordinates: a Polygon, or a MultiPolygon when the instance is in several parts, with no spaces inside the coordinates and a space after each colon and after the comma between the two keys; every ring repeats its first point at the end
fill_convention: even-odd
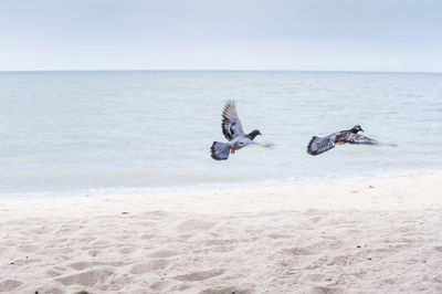
{"type": "Polygon", "coordinates": [[[309,155],[319,155],[335,148],[335,145],[341,145],[346,143],[379,145],[379,141],[375,139],[358,135],[358,132],[360,130],[364,132],[359,125],[356,125],[348,130],[336,132],[323,138],[313,136],[312,140],[308,143],[307,153],[309,155]]]}

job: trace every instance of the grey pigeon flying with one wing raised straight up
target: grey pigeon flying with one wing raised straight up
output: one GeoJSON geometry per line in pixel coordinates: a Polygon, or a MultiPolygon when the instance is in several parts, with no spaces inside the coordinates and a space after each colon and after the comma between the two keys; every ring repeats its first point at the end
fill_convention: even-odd
{"type": "Polygon", "coordinates": [[[271,146],[270,144],[253,141],[257,135],[262,135],[257,129],[252,130],[248,135],[244,134],[233,101],[228,101],[225,103],[224,111],[222,112],[221,129],[229,141],[213,141],[210,151],[214,160],[225,160],[229,158],[229,154],[234,154],[236,150],[248,145],[260,145],[262,147],[271,146]]]}

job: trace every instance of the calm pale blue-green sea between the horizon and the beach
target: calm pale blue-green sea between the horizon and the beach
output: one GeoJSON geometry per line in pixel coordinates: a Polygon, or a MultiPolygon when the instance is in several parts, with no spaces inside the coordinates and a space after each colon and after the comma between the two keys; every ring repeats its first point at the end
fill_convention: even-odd
{"type": "Polygon", "coordinates": [[[302,182],[442,169],[442,74],[2,72],[0,193],[302,182]],[[221,111],[236,102],[257,141],[227,161],[221,111]],[[388,146],[306,153],[359,124],[388,146]]]}

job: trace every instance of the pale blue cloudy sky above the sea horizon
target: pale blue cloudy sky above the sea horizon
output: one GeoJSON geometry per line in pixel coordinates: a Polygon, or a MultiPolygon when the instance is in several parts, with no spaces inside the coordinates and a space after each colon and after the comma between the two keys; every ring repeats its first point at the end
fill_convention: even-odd
{"type": "Polygon", "coordinates": [[[442,72],[440,0],[0,0],[0,71],[442,72]]]}

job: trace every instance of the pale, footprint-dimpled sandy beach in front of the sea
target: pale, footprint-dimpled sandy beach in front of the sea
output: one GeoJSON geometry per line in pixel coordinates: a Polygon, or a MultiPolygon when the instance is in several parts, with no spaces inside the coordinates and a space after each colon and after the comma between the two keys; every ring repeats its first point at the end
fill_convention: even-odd
{"type": "Polygon", "coordinates": [[[0,204],[6,293],[442,293],[442,175],[0,204]]]}

